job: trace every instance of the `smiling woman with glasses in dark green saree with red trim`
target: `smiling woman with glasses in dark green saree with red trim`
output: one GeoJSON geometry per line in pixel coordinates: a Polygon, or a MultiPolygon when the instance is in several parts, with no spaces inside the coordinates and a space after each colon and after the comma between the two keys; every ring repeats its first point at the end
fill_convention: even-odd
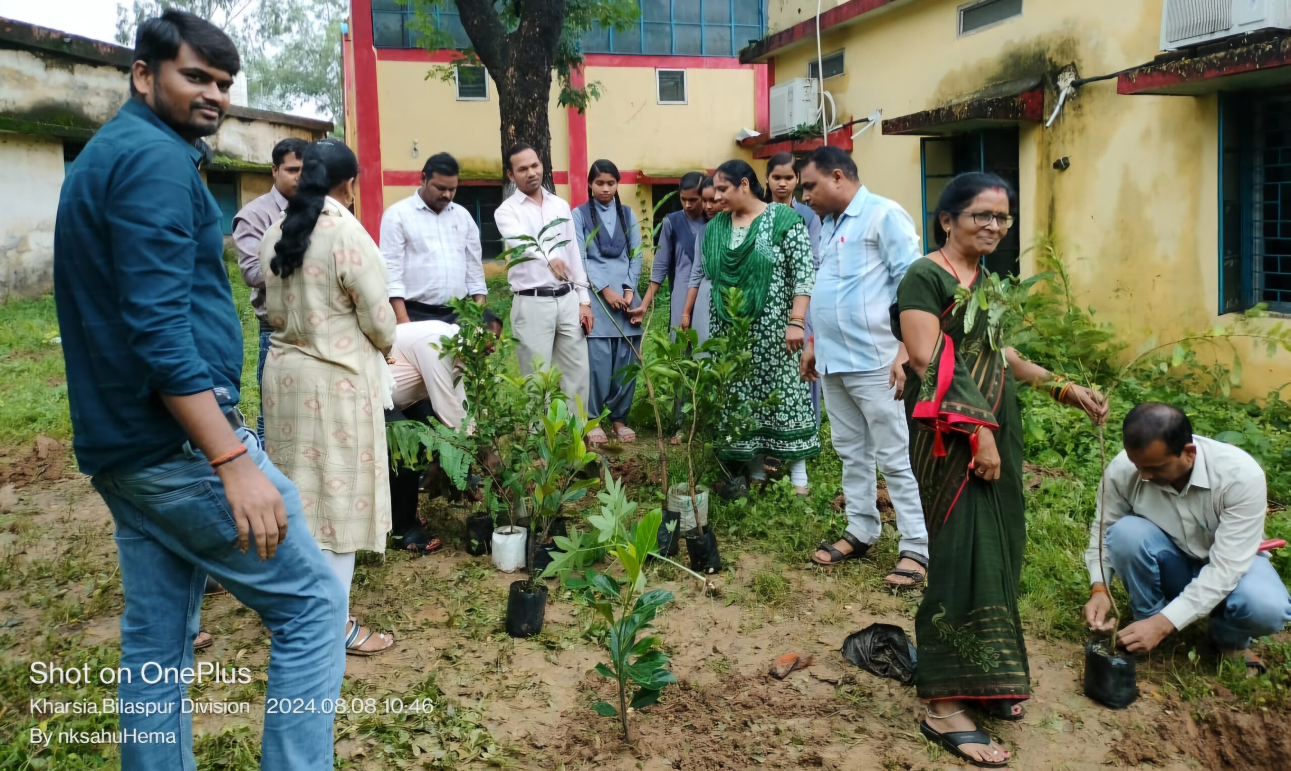
{"type": "Polygon", "coordinates": [[[927,703],[920,731],[957,757],[989,768],[1008,753],[966,714],[976,707],[1020,719],[1030,673],[1017,587],[1026,545],[1022,425],[1016,383],[1048,387],[1064,404],[1106,419],[1101,395],[1059,382],[988,339],[986,313],[966,330],[955,291],[980,290],[981,258],[1008,227],[1013,193],[993,174],[946,187],[937,219],[946,245],[910,266],[897,289],[910,460],[928,525],[928,579],[914,619],[915,687],[927,703]]]}

